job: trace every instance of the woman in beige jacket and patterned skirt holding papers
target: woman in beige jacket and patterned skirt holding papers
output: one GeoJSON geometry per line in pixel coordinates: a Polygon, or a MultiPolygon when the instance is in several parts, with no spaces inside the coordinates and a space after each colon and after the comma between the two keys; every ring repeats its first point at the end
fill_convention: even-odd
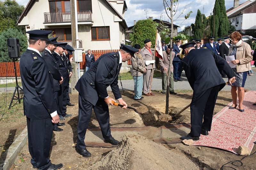
{"type": "Polygon", "coordinates": [[[231,62],[236,65],[232,68],[236,74],[236,81],[231,84],[231,95],[233,104],[229,109],[235,109],[237,107],[237,93],[239,101],[239,111],[244,112],[243,100],[244,100],[244,84],[247,77],[247,72],[251,70],[250,62],[252,61],[252,49],[249,44],[242,41],[242,35],[235,31],[231,33],[230,39],[233,45],[230,46],[228,55],[232,57],[234,55],[235,60],[231,62]]]}

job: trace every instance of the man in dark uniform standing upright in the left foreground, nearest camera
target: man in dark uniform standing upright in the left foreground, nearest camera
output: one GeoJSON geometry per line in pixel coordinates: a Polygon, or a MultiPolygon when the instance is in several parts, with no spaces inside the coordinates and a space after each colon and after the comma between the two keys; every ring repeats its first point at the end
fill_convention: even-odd
{"type": "MultiPolygon", "coordinates": [[[[48,34],[52,31],[28,31],[29,46],[20,57],[20,77],[24,91],[23,107],[27,117],[28,149],[31,164],[39,170],[60,169],[49,157],[52,141],[52,123],[59,123],[57,103],[53,89],[51,71],[42,58],[48,34]]],[[[29,168],[27,168],[29,169],[29,168]]]]}

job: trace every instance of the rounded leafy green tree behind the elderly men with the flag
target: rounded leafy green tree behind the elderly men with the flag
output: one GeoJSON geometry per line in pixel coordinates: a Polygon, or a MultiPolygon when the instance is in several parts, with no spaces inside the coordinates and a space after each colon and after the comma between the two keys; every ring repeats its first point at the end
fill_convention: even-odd
{"type": "Polygon", "coordinates": [[[152,42],[151,48],[155,47],[156,41],[156,24],[151,19],[139,20],[133,27],[133,33],[130,34],[130,39],[133,44],[144,46],[144,40],[150,39],[152,42]]]}

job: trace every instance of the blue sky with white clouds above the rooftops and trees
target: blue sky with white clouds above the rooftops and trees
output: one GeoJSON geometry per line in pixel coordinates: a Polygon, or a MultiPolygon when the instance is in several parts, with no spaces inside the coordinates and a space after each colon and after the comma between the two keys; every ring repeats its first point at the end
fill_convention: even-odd
{"type": "MultiPolygon", "coordinates": [[[[3,0],[1,0],[3,1],[3,0]]],[[[26,6],[29,0],[16,0],[19,4],[26,6]]],[[[240,0],[240,4],[245,2],[246,0],[240,0]]],[[[176,19],[181,11],[185,8],[183,14],[180,15],[179,18],[174,20],[175,25],[179,25],[180,29],[178,31],[182,31],[185,26],[191,25],[191,23],[195,22],[197,9],[199,9],[205,16],[209,16],[215,1],[205,1],[205,0],[179,0],[179,7],[174,19],[176,19]],[[185,19],[184,16],[189,11],[193,11],[188,19],[185,19]]],[[[162,0],[126,0],[126,4],[128,10],[125,12],[125,21],[128,26],[133,25],[133,20],[146,19],[146,11],[147,17],[153,17],[153,19],[161,19],[168,21],[168,17],[164,10],[164,5],[162,0]],[[162,14],[162,15],[161,15],[162,14]]],[[[226,9],[229,9],[233,6],[234,0],[226,0],[225,5],[226,9]]],[[[170,20],[169,20],[170,21],[170,20]]]]}

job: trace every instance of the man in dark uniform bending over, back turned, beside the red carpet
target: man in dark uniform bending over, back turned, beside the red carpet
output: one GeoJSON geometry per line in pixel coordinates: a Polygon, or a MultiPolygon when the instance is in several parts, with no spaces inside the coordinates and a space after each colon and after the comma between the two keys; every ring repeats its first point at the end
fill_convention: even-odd
{"type": "Polygon", "coordinates": [[[200,134],[208,135],[208,131],[211,131],[218,92],[225,86],[218,68],[228,75],[230,83],[236,80],[235,73],[226,60],[208,49],[195,50],[194,44],[190,42],[181,46],[182,53],[186,55],[181,61],[182,69],[185,70],[188,82],[193,89],[190,104],[191,131],[187,136],[181,137],[182,140],[199,140],[200,134]]]}

